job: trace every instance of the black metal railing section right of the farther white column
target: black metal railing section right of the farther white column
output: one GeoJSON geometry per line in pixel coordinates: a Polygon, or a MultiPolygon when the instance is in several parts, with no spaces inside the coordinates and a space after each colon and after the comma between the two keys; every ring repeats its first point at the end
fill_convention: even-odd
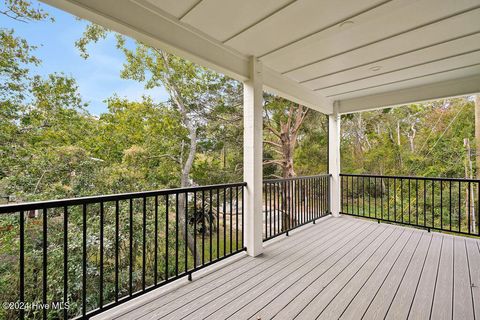
{"type": "Polygon", "coordinates": [[[344,214],[480,236],[480,180],[340,176],[344,214]]]}

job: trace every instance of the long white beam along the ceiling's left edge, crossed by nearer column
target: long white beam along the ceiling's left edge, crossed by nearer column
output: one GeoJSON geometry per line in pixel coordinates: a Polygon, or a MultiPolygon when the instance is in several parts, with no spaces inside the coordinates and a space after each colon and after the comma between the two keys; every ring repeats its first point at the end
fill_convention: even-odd
{"type": "MultiPolygon", "coordinates": [[[[249,77],[249,57],[229,49],[143,0],[41,0],[145,44],[164,49],[239,81],[249,77]]],[[[266,91],[331,113],[331,103],[297,82],[265,68],[266,91]]]]}

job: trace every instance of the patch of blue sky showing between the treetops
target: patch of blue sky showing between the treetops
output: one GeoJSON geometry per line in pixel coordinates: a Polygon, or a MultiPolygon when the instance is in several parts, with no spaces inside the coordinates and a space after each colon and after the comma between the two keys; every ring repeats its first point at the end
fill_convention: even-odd
{"type": "Polygon", "coordinates": [[[90,57],[85,60],[80,57],[75,41],[81,37],[88,22],[36,0],[32,3],[49,12],[55,22],[23,23],[0,15],[0,27],[14,29],[18,36],[38,46],[35,55],[42,60],[42,64],[33,70],[35,74],[63,72],[75,78],[82,98],[89,103],[88,110],[96,115],[107,111],[103,101],[114,93],[130,100],[139,100],[144,94],[158,102],[168,100],[163,88],[145,90],[141,83],[120,79],[124,59],[115,48],[113,36],[90,45],[90,57]]]}

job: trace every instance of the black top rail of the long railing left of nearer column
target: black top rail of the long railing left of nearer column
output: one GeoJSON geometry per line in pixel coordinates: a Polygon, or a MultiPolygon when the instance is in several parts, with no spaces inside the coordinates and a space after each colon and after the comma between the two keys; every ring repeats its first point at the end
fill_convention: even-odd
{"type": "Polygon", "coordinates": [[[229,188],[245,187],[246,185],[247,185],[246,182],[237,182],[237,183],[214,184],[214,185],[208,185],[208,186],[196,186],[196,187],[188,187],[188,188],[162,189],[162,190],[139,191],[139,192],[119,193],[119,194],[110,194],[110,195],[101,195],[101,196],[79,197],[79,198],[70,198],[70,199],[23,202],[23,203],[16,203],[16,204],[0,205],[0,214],[15,213],[20,211],[39,210],[39,209],[52,209],[52,208],[60,208],[64,206],[78,206],[83,204],[92,204],[92,203],[118,201],[118,200],[139,199],[143,197],[180,194],[180,193],[195,192],[195,191],[202,191],[202,190],[207,191],[207,190],[215,190],[215,189],[220,189],[225,187],[229,187],[229,188]]]}

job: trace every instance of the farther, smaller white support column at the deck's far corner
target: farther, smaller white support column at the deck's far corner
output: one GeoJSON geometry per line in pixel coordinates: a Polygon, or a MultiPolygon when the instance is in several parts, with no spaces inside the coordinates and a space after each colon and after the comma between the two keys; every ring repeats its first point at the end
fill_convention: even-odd
{"type": "Polygon", "coordinates": [[[333,106],[333,113],[328,116],[328,171],[330,178],[330,210],[334,217],[340,215],[340,115],[338,105],[333,106]]]}

